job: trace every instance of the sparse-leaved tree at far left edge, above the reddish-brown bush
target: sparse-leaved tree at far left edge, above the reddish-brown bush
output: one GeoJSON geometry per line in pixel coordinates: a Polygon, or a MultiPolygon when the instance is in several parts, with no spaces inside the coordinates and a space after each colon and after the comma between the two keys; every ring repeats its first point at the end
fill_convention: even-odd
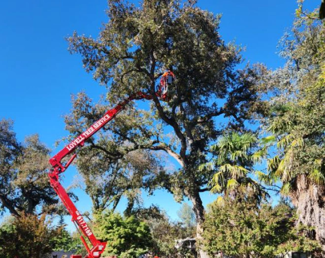
{"type": "Polygon", "coordinates": [[[0,120],[0,207],[20,216],[36,208],[52,210],[58,202],[46,169],[50,150],[38,135],[19,143],[11,120],[0,120]]]}

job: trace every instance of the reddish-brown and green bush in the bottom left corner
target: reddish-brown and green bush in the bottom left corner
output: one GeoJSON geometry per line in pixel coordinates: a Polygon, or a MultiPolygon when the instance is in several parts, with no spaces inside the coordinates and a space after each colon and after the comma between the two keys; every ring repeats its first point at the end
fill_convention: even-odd
{"type": "Polygon", "coordinates": [[[63,227],[51,226],[46,215],[21,213],[0,226],[0,257],[43,257],[54,250],[66,250],[71,237],[63,227]]]}

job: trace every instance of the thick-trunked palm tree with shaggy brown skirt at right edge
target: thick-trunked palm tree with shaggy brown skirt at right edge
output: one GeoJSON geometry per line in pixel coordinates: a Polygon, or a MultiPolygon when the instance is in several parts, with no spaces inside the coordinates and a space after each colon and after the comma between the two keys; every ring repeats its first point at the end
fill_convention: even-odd
{"type": "MultiPolygon", "coordinates": [[[[324,80],[325,82],[325,80],[324,80]]],[[[324,90],[323,85],[323,90],[324,90]]],[[[317,91],[311,92],[316,94],[317,91]]],[[[324,93],[323,93],[324,94],[324,93]]],[[[323,95],[324,98],[324,95],[323,95]]],[[[271,136],[278,154],[268,159],[269,183],[282,182],[281,194],[297,207],[299,222],[314,227],[316,239],[325,244],[325,134],[324,125],[307,128],[315,119],[317,102],[275,105],[269,118],[271,136]],[[313,108],[311,108],[314,106],[313,108]]],[[[317,108],[320,118],[321,109],[317,108]]],[[[324,112],[324,109],[323,109],[324,112]]],[[[323,119],[324,121],[324,119],[323,119]]]]}

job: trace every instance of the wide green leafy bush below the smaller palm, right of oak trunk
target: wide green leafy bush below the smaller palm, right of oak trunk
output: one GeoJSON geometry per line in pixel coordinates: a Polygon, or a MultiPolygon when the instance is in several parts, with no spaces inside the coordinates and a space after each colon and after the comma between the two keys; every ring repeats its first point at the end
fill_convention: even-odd
{"type": "Polygon", "coordinates": [[[296,221],[294,210],[283,203],[274,208],[269,204],[258,208],[249,199],[225,198],[209,206],[203,244],[211,255],[222,251],[235,258],[272,258],[288,251],[319,250],[317,241],[306,237],[306,227],[295,227],[296,221]]]}

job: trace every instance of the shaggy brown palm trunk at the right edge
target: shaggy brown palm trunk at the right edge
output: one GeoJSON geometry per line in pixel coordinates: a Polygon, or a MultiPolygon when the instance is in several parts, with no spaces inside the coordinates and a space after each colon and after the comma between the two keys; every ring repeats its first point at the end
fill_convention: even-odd
{"type": "Polygon", "coordinates": [[[314,228],[314,237],[325,250],[325,187],[311,184],[305,174],[300,174],[291,197],[297,207],[298,222],[314,228]]]}

